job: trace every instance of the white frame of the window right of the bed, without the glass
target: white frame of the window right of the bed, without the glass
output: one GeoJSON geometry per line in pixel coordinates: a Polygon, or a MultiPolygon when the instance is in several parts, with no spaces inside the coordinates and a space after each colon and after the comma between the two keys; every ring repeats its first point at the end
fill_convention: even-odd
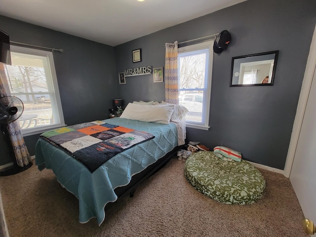
{"type": "MultiPolygon", "coordinates": [[[[188,122],[186,120],[186,126],[190,128],[196,128],[196,129],[201,129],[201,130],[208,130],[210,128],[209,126],[209,116],[210,116],[210,103],[211,103],[211,86],[212,86],[212,72],[213,72],[213,44],[214,40],[209,40],[206,42],[202,43],[197,43],[197,44],[192,44],[184,47],[179,47],[178,48],[178,65],[180,64],[179,60],[179,54],[185,53],[185,52],[191,52],[191,51],[196,51],[200,49],[206,49],[208,48],[209,50],[209,58],[208,58],[208,67],[206,65],[206,69],[208,70],[208,78],[207,80],[205,79],[205,95],[206,101],[205,104],[203,103],[203,109],[205,110],[205,113],[202,112],[202,115],[204,114],[204,118],[202,118],[202,121],[204,119],[204,122],[188,122]]],[[[179,76],[180,70],[178,70],[178,76],[179,76]]],[[[180,83],[180,77],[179,82],[180,83]]]]}

